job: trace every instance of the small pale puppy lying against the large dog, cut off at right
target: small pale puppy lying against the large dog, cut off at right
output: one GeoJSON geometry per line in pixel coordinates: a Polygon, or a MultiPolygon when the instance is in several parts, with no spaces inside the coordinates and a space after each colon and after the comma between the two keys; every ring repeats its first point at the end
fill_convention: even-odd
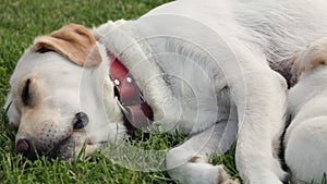
{"type": "Polygon", "coordinates": [[[284,136],[286,162],[294,183],[320,183],[327,174],[327,37],[295,57],[299,82],[289,91],[293,120],[284,136]]]}

